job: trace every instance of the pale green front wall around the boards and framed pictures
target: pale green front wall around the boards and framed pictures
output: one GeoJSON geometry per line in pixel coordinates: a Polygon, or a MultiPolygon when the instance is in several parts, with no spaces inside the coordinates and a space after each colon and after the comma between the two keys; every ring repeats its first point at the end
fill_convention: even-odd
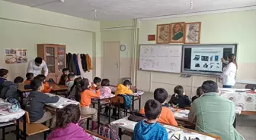
{"type": "MultiPolygon", "coordinates": [[[[238,43],[238,82],[235,87],[244,88],[242,82],[256,81],[256,10],[222,14],[208,14],[190,17],[175,17],[162,20],[142,20],[139,22],[139,44],[155,44],[149,42],[147,36],[156,33],[157,24],[175,22],[202,22],[201,44],[238,43]]],[[[138,55],[137,55],[138,56],[138,55]]],[[[139,56],[138,56],[139,57],[139,56]]],[[[174,86],[184,86],[187,94],[195,95],[198,86],[206,79],[219,81],[216,77],[191,76],[183,78],[181,74],[159,73],[137,70],[137,86],[145,91],[154,91],[162,87],[173,94],[174,86]]],[[[219,86],[221,84],[219,83],[219,86]]]]}

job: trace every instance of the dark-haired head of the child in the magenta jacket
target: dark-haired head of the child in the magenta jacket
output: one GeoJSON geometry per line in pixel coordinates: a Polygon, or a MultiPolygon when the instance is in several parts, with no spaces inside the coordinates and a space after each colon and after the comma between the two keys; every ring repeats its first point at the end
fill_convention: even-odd
{"type": "Polygon", "coordinates": [[[69,123],[77,124],[80,120],[79,106],[69,104],[58,110],[56,115],[56,128],[65,128],[69,123]]]}

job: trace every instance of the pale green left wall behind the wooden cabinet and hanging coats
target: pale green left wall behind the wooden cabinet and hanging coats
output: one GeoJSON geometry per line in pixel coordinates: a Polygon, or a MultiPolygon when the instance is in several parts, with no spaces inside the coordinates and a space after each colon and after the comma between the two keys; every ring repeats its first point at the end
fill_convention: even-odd
{"type": "Polygon", "coordinates": [[[98,21],[43,11],[0,1],[0,66],[10,71],[8,79],[25,76],[27,64],[5,64],[5,48],[27,48],[28,60],[37,57],[37,44],[66,45],[66,51],[88,53],[94,70],[88,79],[101,76],[101,32],[98,21]]]}

